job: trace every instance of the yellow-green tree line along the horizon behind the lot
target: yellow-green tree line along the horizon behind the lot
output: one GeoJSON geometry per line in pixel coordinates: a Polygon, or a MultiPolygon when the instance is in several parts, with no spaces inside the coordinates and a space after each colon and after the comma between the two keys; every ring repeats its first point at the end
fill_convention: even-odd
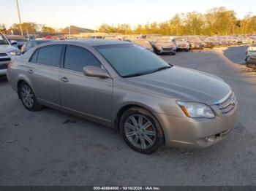
{"type": "MultiPolygon", "coordinates": [[[[67,34],[67,28],[54,29],[37,23],[22,23],[23,33],[45,34],[63,33],[67,34]]],[[[162,34],[171,36],[185,35],[244,35],[256,34],[256,16],[248,13],[243,19],[236,17],[236,12],[225,7],[217,7],[208,10],[206,14],[189,12],[187,14],[176,14],[170,20],[162,23],[146,23],[131,28],[129,24],[123,23],[117,26],[103,23],[98,32],[119,34],[162,34]]],[[[20,25],[15,23],[10,28],[0,24],[0,32],[4,34],[20,34],[20,25]]],[[[72,34],[79,33],[75,28],[72,34]]]]}

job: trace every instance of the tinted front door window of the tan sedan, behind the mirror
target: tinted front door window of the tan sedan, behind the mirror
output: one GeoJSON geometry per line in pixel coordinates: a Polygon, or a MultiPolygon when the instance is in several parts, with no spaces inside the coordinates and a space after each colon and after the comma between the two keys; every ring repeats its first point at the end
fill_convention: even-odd
{"type": "Polygon", "coordinates": [[[84,66],[101,67],[101,63],[97,58],[83,47],[67,46],[65,53],[64,68],[83,71],[84,66]]]}

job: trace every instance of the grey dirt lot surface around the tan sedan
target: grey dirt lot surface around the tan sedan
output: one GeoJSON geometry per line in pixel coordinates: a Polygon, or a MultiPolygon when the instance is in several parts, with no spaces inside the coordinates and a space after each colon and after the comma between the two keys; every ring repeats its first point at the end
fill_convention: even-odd
{"type": "Polygon", "coordinates": [[[141,155],[113,130],[43,109],[28,112],[0,79],[1,185],[255,185],[256,73],[241,63],[246,47],[162,56],[206,71],[235,90],[239,117],[233,133],[214,147],[164,149],[141,155]]]}

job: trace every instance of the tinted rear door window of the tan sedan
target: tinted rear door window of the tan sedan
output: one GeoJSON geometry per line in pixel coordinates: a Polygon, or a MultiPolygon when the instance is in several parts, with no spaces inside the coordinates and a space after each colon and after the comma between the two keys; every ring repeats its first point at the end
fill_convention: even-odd
{"type": "Polygon", "coordinates": [[[37,55],[37,63],[41,63],[47,66],[59,67],[61,60],[61,51],[62,45],[42,47],[39,49],[37,55]]]}

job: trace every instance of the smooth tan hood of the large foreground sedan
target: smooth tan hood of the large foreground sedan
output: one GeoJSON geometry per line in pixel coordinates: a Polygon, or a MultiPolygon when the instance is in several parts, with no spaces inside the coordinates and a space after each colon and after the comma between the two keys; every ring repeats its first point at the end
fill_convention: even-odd
{"type": "Polygon", "coordinates": [[[127,79],[132,85],[151,93],[162,94],[179,101],[196,101],[208,105],[221,100],[231,90],[219,77],[178,66],[127,79]]]}

